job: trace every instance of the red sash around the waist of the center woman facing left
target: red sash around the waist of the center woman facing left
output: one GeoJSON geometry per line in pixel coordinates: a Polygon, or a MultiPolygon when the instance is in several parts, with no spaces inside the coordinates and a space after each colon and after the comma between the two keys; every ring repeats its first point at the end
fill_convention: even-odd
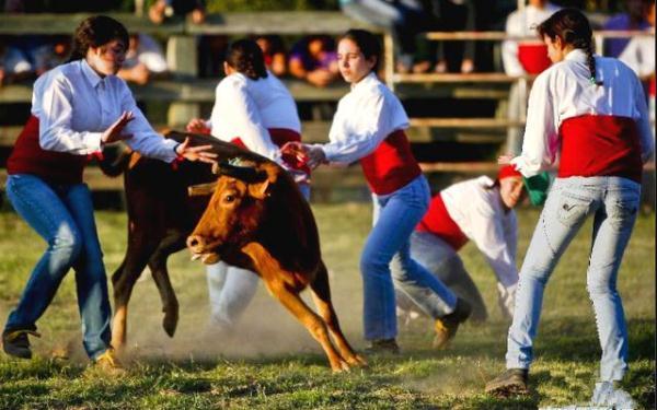
{"type": "Polygon", "coordinates": [[[360,159],[365,178],[377,195],[394,192],[422,174],[403,130],[388,136],[374,152],[360,159]]]}

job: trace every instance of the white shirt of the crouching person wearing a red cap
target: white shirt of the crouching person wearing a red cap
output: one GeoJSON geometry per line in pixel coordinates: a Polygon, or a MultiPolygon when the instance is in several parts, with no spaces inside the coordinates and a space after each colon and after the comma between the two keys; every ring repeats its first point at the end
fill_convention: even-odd
{"type": "Polygon", "coordinates": [[[493,184],[481,176],[443,189],[440,197],[452,220],[484,254],[499,283],[509,288],[518,282],[518,222],[514,210],[505,212],[502,207],[499,188],[486,189],[493,184]]]}

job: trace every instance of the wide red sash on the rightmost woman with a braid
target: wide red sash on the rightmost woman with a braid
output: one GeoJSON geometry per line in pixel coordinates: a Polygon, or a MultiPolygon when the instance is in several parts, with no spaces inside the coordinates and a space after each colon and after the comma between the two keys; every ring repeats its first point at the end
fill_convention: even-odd
{"type": "Polygon", "coordinates": [[[584,115],[563,121],[560,133],[560,178],[621,176],[641,183],[641,143],[634,119],[584,115]]]}

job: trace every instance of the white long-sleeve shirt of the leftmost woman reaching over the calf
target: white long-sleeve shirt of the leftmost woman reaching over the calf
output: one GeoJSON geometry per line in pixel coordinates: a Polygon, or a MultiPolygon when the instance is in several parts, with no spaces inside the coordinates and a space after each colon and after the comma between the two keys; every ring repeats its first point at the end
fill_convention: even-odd
{"type": "Polygon", "coordinates": [[[85,60],[44,73],[34,83],[32,114],[38,118],[44,150],[87,155],[101,149],[102,133],[123,112],[132,112],[125,142],[146,156],[171,162],[177,142],[157,133],[137,107],[130,89],[116,75],[101,78],[85,60]]]}

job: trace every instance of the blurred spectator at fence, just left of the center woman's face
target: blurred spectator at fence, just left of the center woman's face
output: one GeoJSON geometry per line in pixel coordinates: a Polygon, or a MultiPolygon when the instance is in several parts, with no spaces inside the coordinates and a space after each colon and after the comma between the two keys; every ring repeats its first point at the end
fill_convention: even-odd
{"type": "Polygon", "coordinates": [[[325,35],[307,36],[290,52],[290,73],[316,86],[326,86],[338,77],[335,42],[325,35]]]}

